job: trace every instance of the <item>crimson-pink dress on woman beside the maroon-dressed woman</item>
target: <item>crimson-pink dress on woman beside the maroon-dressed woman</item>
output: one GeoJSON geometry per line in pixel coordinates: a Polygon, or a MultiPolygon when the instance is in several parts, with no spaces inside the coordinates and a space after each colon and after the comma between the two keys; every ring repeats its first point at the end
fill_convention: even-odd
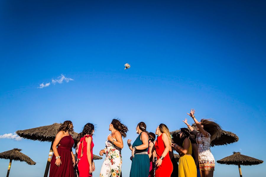
{"type": "MultiPolygon", "coordinates": [[[[87,157],[87,142],[85,141],[86,137],[92,138],[91,135],[85,135],[83,138],[80,139],[80,142],[83,143],[83,148],[82,148],[82,144],[80,143],[79,151],[78,151],[78,158],[81,156],[81,149],[82,149],[83,155],[80,158],[80,161],[78,163],[78,169],[80,172],[79,177],[92,176],[92,173],[89,173],[90,164],[89,164],[88,157],[87,157]]],[[[93,160],[93,146],[94,146],[93,141],[91,141],[91,145],[90,145],[91,160],[93,160]]]]}

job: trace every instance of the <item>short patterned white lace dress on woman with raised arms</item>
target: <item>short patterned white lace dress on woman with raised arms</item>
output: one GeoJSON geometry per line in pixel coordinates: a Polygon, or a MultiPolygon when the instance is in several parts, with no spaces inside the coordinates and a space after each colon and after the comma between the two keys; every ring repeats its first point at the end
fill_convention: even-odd
{"type": "Polygon", "coordinates": [[[200,171],[214,171],[215,160],[210,150],[210,137],[208,132],[205,136],[197,132],[200,171]]]}

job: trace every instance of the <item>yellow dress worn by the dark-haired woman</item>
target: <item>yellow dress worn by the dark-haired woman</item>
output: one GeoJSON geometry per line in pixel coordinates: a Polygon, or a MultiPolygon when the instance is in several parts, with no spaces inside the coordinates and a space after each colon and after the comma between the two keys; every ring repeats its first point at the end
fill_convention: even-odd
{"type": "MultiPolygon", "coordinates": [[[[183,142],[184,147],[184,142],[183,142]]],[[[189,140],[189,149],[187,153],[179,158],[178,176],[179,177],[197,177],[197,167],[192,154],[192,145],[189,140]]]]}

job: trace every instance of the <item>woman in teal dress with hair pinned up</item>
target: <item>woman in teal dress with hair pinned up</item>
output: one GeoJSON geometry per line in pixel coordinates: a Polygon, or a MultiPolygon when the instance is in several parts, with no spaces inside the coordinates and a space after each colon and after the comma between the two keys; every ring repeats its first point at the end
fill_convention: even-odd
{"type": "Polygon", "coordinates": [[[127,140],[133,157],[129,177],[147,177],[150,171],[150,158],[148,155],[149,133],[146,131],[146,124],[140,122],[137,125],[136,132],[139,136],[133,145],[131,145],[131,140],[127,140]]]}

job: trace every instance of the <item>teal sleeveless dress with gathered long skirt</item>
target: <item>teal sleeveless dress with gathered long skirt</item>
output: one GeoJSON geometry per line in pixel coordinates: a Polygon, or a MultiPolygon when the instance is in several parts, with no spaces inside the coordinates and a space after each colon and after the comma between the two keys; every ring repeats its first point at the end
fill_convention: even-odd
{"type": "MultiPolygon", "coordinates": [[[[142,145],[140,140],[142,132],[134,141],[132,147],[142,145]]],[[[144,150],[136,150],[132,158],[131,169],[129,177],[148,177],[150,171],[150,158],[148,155],[148,148],[144,150]]]]}

